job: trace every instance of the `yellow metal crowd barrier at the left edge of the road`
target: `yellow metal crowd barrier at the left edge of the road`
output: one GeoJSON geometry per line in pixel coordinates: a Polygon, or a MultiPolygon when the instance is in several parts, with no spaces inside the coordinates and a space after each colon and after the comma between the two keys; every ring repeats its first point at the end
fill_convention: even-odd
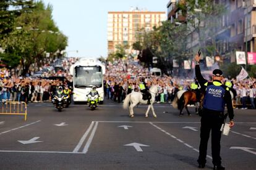
{"type": "Polygon", "coordinates": [[[3,102],[0,115],[24,115],[27,120],[27,103],[25,102],[3,102]]]}

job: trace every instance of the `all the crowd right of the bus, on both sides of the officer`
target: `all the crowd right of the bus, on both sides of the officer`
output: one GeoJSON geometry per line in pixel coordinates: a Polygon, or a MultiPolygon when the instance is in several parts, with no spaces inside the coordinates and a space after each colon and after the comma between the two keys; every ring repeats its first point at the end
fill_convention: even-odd
{"type": "MultiPolygon", "coordinates": [[[[145,78],[147,86],[152,82],[158,83],[158,94],[155,101],[157,103],[172,102],[179,90],[189,90],[190,84],[194,81],[191,78],[177,78],[172,76],[154,76],[150,74],[148,68],[143,68],[134,60],[115,60],[106,64],[105,74],[105,96],[117,102],[122,102],[127,94],[132,91],[139,91],[141,79],[145,78]]],[[[231,81],[236,91],[234,107],[246,109],[255,108],[256,102],[256,79],[249,78],[242,81],[236,79],[224,79],[231,81]]],[[[223,83],[224,83],[223,82],[223,83]]]]}

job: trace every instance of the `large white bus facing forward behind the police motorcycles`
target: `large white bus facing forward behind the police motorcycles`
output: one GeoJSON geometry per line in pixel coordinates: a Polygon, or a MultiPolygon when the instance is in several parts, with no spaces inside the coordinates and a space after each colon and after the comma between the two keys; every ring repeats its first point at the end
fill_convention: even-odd
{"type": "Polygon", "coordinates": [[[100,94],[100,103],[104,100],[103,75],[106,68],[97,59],[80,59],[70,67],[73,76],[73,100],[76,102],[87,102],[87,94],[95,86],[100,94]]]}

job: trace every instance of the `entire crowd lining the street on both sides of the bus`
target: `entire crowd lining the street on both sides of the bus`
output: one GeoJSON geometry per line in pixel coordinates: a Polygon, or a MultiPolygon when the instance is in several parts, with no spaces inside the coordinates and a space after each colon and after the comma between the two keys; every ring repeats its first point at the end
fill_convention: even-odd
{"type": "MultiPolygon", "coordinates": [[[[17,76],[14,70],[7,68],[0,69],[0,102],[2,100],[24,101],[24,102],[45,102],[51,100],[51,94],[57,86],[65,86],[72,81],[69,68],[78,58],[66,58],[56,60],[61,69],[54,69],[53,64],[46,64],[40,67],[40,77],[34,76],[35,71],[30,75],[17,76]],[[49,79],[54,77],[54,79],[49,79]],[[58,79],[62,77],[62,79],[58,79]],[[64,79],[63,79],[64,78],[64,79]]],[[[53,62],[53,63],[54,63],[53,62]]],[[[151,75],[148,68],[142,67],[134,59],[114,60],[106,63],[106,74],[104,75],[105,97],[116,102],[122,102],[126,95],[132,91],[140,91],[139,84],[145,78],[145,83],[150,88],[152,82],[158,83],[157,103],[172,102],[179,90],[190,89],[194,79],[177,78],[172,76],[151,75]]],[[[255,108],[256,79],[249,78],[242,81],[236,79],[225,79],[231,81],[236,91],[234,103],[236,107],[246,109],[255,108]]]]}

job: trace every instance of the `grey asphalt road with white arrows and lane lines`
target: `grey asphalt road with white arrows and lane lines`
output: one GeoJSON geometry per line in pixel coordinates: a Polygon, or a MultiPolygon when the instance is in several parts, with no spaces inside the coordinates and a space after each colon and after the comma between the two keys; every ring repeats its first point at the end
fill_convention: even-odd
{"type": "MultiPolygon", "coordinates": [[[[120,103],[105,99],[91,111],[71,105],[30,103],[23,116],[0,115],[0,169],[198,169],[200,117],[179,116],[169,103],[145,105],[134,118],[120,103]]],[[[256,169],[256,111],[235,110],[235,126],[222,136],[226,169],[256,169]]],[[[207,166],[212,169],[211,145],[207,166]]]]}

